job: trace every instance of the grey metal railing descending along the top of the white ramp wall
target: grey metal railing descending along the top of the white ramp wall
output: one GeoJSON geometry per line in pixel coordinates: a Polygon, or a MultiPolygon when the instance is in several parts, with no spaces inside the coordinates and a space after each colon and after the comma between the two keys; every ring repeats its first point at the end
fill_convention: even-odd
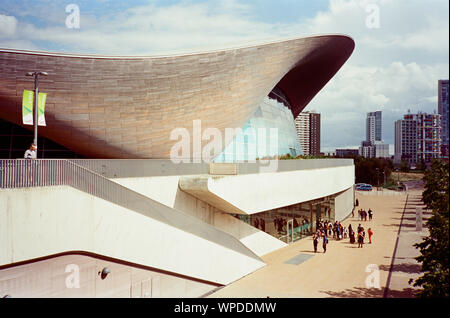
{"type": "Polygon", "coordinates": [[[73,187],[259,260],[259,257],[239,240],[230,240],[231,235],[214,226],[165,206],[67,159],[0,159],[0,191],[60,185],[73,187]]]}

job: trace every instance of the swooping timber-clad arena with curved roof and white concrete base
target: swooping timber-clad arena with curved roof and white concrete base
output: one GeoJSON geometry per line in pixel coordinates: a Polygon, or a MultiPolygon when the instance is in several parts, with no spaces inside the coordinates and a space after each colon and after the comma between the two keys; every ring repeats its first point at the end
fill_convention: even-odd
{"type": "Polygon", "coordinates": [[[294,118],[353,49],[341,35],[158,57],[0,49],[0,296],[201,297],[345,219],[352,159],[276,158],[301,153],[294,118]],[[47,126],[38,159],[18,160],[36,70],[47,126]]]}

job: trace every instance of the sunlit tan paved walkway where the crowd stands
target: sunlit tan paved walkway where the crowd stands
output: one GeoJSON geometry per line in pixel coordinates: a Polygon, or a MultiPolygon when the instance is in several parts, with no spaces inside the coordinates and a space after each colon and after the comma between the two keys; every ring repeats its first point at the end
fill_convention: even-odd
{"type": "MultiPolygon", "coordinates": [[[[372,228],[372,244],[368,244],[366,239],[364,247],[357,248],[357,244],[350,244],[348,238],[341,241],[330,238],[326,253],[323,253],[321,242],[318,253],[314,253],[312,238],[308,237],[263,256],[267,266],[208,297],[383,297],[388,279],[388,297],[410,297],[412,287],[408,285],[407,280],[410,276],[415,277],[409,274],[416,271],[417,264],[413,264],[414,268],[411,267],[411,258],[415,254],[409,245],[420,239],[417,235],[404,232],[412,230],[409,225],[411,220],[405,220],[401,239],[397,244],[406,194],[383,197],[357,193],[356,197],[359,200],[359,209],[373,210],[373,220],[358,221],[355,210],[355,217],[350,215],[342,224],[352,224],[353,229],[356,229],[361,223],[366,233],[369,227],[372,228]],[[389,275],[394,250],[396,259],[393,272],[389,275]],[[374,277],[374,268],[379,269],[379,286],[376,279],[368,279],[369,275],[374,277]]],[[[414,200],[416,199],[414,196],[414,200]]],[[[413,200],[408,203],[405,218],[412,217],[409,216],[410,208],[416,203],[413,200]]]]}

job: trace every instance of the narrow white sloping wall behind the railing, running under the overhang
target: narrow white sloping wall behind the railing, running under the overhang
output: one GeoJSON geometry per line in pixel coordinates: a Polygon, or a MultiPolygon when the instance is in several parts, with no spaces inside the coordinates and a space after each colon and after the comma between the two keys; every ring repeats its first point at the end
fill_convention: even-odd
{"type": "Polygon", "coordinates": [[[178,187],[179,180],[179,176],[114,179],[123,186],[164,205],[189,213],[217,229],[231,234],[258,256],[286,246],[284,242],[273,236],[181,191],[178,187]]]}

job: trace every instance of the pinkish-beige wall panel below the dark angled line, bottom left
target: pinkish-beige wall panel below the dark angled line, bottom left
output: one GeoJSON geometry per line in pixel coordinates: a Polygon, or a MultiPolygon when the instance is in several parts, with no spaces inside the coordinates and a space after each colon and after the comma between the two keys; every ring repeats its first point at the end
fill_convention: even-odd
{"type": "Polygon", "coordinates": [[[0,298],[199,297],[214,285],[89,255],[61,255],[0,270],[0,298]],[[104,267],[110,274],[102,279],[104,267]]]}

